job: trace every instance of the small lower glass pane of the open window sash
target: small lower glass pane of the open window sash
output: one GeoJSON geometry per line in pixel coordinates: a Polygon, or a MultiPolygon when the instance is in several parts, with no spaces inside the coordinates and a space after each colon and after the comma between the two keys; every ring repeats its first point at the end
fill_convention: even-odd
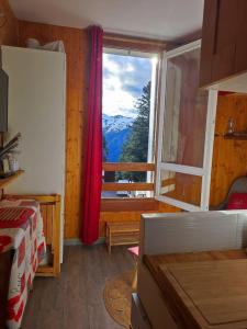
{"type": "Polygon", "coordinates": [[[202,178],[173,171],[161,171],[159,194],[200,206],[202,178]]]}

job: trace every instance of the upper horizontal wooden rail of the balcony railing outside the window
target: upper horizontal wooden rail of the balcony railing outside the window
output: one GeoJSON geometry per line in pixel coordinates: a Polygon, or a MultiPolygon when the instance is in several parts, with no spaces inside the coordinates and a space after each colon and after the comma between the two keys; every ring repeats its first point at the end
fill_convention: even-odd
{"type": "Polygon", "coordinates": [[[104,171],[155,171],[155,163],[103,162],[104,171]]]}

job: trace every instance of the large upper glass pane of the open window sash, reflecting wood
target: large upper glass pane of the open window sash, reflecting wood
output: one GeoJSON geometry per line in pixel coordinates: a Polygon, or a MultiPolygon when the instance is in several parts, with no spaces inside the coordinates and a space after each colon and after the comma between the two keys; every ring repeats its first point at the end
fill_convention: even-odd
{"type": "Polygon", "coordinates": [[[203,167],[207,91],[199,90],[200,49],[168,59],[162,162],[203,167]]]}

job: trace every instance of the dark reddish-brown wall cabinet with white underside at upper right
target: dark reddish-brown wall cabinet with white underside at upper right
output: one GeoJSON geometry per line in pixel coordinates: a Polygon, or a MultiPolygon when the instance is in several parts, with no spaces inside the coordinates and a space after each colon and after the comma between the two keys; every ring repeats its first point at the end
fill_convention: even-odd
{"type": "Polygon", "coordinates": [[[220,90],[245,91],[245,88],[239,90],[239,84],[243,89],[243,79],[239,81],[237,78],[236,81],[236,76],[247,71],[246,13],[246,0],[205,0],[200,69],[201,87],[216,86],[216,89],[220,90]],[[234,79],[229,80],[233,77],[234,79]],[[223,81],[224,83],[222,83],[223,81]]]}

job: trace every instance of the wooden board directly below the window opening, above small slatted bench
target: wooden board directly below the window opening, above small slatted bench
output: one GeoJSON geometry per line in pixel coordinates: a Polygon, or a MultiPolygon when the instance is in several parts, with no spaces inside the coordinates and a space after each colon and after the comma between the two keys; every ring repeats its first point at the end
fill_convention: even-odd
{"type": "Polygon", "coordinates": [[[101,200],[101,212],[151,212],[158,209],[159,202],[154,197],[101,200]]]}

